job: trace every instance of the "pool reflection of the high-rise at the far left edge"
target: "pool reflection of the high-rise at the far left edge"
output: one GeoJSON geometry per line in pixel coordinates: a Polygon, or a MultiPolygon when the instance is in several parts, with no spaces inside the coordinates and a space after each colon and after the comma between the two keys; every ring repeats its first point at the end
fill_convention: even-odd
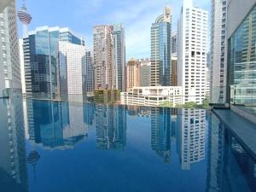
{"type": "Polygon", "coordinates": [[[28,191],[22,99],[0,100],[0,191],[28,191]]]}

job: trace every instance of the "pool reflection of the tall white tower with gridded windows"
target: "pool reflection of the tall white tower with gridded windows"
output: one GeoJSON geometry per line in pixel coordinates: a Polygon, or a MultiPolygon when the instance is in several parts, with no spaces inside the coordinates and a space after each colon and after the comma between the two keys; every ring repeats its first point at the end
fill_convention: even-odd
{"type": "Polygon", "coordinates": [[[189,170],[190,165],[205,159],[206,110],[179,109],[177,115],[177,154],[181,168],[189,170]]]}

